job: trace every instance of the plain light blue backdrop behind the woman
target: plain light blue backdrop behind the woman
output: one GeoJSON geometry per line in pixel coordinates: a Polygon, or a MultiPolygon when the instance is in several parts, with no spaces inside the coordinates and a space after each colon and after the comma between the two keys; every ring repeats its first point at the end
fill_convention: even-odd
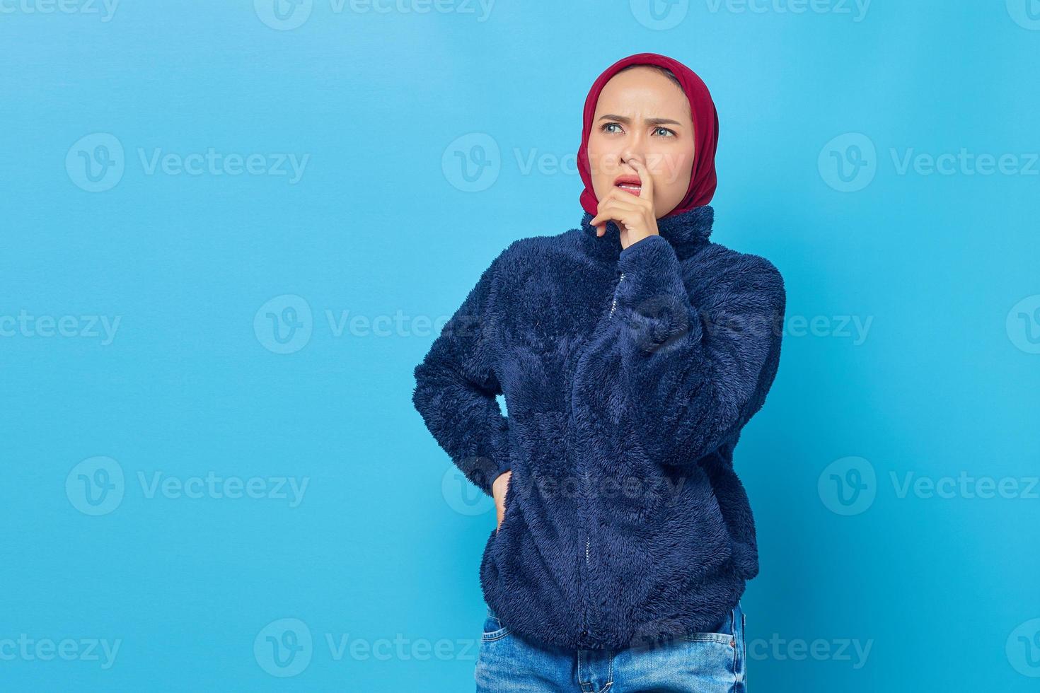
{"type": "Polygon", "coordinates": [[[1036,690],[1040,165],[898,165],[963,148],[1029,168],[1025,0],[700,0],[659,21],[639,2],[330,1],[280,25],[263,0],[4,0],[0,319],[72,318],[0,338],[0,641],[120,649],[105,669],[0,647],[0,689],[472,690],[494,511],[412,408],[412,369],[503,247],[577,224],[584,95],[653,51],[718,103],[713,240],[786,281],[779,375],[735,455],[761,562],[750,690],[1036,690]],[[89,192],[79,153],[111,139],[76,143],[97,133],[124,169],[89,192]],[[291,183],[149,175],[138,154],[210,148],[309,158],[291,183]],[[295,343],[270,299],[311,310],[295,343]],[[337,330],[327,311],[402,319],[337,330]],[[120,319],[109,343],[84,316],[120,319]],[[73,473],[96,456],[125,475],[100,515],[73,473]],[[1018,490],[901,492],[962,472],[1018,490]],[[149,497],[156,473],[308,486],[295,507],[149,497]],[[835,481],[857,474],[856,492],[835,481]],[[296,670],[264,655],[287,628],[312,637],[296,670]]]}

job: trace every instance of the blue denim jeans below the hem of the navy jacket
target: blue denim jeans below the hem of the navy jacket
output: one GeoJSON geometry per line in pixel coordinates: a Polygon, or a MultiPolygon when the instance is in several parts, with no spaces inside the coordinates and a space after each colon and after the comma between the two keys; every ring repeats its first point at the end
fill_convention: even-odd
{"type": "Polygon", "coordinates": [[[625,649],[571,649],[513,633],[491,608],[476,659],[477,693],[745,693],[739,603],[709,632],[625,649]]]}

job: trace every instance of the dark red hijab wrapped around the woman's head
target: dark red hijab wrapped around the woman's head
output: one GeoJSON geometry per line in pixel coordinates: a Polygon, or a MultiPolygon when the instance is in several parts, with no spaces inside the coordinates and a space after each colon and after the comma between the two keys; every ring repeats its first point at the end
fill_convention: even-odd
{"type": "MultiPolygon", "coordinates": [[[[599,92],[603,90],[603,85],[614,77],[622,68],[631,64],[652,64],[660,68],[668,68],[682,83],[682,90],[690,101],[690,112],[694,121],[694,137],[696,138],[694,172],[690,177],[690,187],[686,195],[676,205],[675,209],[665,215],[665,217],[687,212],[695,207],[707,205],[711,202],[711,196],[716,189],[714,155],[719,146],[719,113],[716,111],[714,102],[708,92],[707,85],[701,81],[693,70],[668,56],[658,53],[635,53],[626,58],[621,58],[613,65],[603,71],[596,78],[589,96],[586,97],[584,116],[581,125],[581,146],[578,150],[578,172],[581,174],[581,182],[584,183],[584,190],[581,191],[581,207],[590,214],[596,214],[599,201],[592,187],[592,174],[589,167],[589,133],[592,132],[592,119],[596,115],[596,103],[599,101],[599,92]]],[[[665,218],[661,217],[661,218],[665,218]]]]}

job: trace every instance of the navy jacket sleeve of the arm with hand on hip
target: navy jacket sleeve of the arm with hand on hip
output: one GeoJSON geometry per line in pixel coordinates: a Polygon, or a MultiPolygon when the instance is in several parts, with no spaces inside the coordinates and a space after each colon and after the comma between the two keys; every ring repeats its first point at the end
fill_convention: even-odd
{"type": "Polygon", "coordinates": [[[499,330],[492,299],[499,258],[415,367],[412,393],[412,403],[437,443],[488,496],[495,478],[511,467],[509,422],[495,399],[502,394],[493,357],[499,330]]]}

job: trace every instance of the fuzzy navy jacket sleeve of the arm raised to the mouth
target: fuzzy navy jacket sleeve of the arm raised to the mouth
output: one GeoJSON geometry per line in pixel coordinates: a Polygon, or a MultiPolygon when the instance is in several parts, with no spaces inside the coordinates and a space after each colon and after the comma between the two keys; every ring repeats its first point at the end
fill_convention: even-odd
{"type": "Polygon", "coordinates": [[[786,302],[780,272],[753,255],[709,263],[718,263],[716,276],[695,305],[661,236],[636,241],[618,260],[621,319],[612,348],[620,351],[626,432],[664,464],[694,463],[735,442],[777,372],[786,302]]]}

